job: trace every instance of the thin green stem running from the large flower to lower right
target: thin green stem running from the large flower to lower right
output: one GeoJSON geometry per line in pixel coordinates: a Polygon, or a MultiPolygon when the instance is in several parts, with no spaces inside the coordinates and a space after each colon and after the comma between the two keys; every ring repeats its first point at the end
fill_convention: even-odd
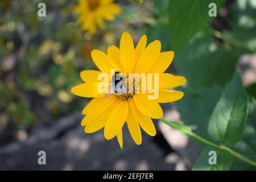
{"type": "MultiPolygon", "coordinates": [[[[172,122],[170,121],[167,121],[166,119],[162,118],[160,119],[162,122],[166,123],[167,125],[173,127],[174,129],[177,129],[174,127],[174,125],[172,125],[172,122]]],[[[212,146],[214,148],[217,148],[218,150],[226,150],[226,151],[229,151],[230,154],[232,154],[233,156],[235,156],[236,158],[242,160],[243,162],[247,163],[247,164],[250,164],[251,166],[254,166],[256,167],[256,162],[254,162],[253,160],[251,159],[248,159],[246,158],[245,156],[243,156],[242,154],[232,150],[231,148],[227,147],[227,146],[224,146],[223,144],[221,144],[220,146],[216,143],[213,143],[213,142],[210,142],[209,140],[203,138],[203,137],[200,137],[199,135],[193,133],[191,130],[186,130],[186,129],[180,129],[179,128],[179,131],[181,131],[183,134],[186,134],[186,135],[189,135],[190,137],[193,137],[205,144],[208,144],[209,146],[212,146]]]]}

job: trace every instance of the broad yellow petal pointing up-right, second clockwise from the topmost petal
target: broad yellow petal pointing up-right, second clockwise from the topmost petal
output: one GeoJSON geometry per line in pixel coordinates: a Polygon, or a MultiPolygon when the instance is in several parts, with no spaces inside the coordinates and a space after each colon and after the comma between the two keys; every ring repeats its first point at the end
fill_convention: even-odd
{"type": "Polygon", "coordinates": [[[158,59],[160,51],[161,43],[159,40],[155,40],[154,42],[150,43],[142,52],[141,57],[139,57],[137,66],[135,68],[135,73],[147,73],[150,71],[158,59]]]}

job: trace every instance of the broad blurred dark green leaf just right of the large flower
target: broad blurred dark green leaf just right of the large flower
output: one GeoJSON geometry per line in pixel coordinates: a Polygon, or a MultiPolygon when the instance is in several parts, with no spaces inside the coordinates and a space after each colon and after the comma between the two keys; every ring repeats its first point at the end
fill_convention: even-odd
{"type": "Polygon", "coordinates": [[[195,92],[213,85],[224,86],[232,78],[238,54],[212,42],[207,31],[199,32],[183,51],[175,55],[175,68],[187,78],[195,92]]]}

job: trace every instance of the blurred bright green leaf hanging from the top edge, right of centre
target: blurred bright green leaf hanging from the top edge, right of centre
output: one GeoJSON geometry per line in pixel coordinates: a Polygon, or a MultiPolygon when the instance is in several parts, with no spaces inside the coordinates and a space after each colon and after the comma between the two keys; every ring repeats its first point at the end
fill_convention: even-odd
{"type": "Polygon", "coordinates": [[[209,4],[216,3],[217,12],[224,0],[171,0],[170,1],[170,34],[171,47],[180,51],[196,32],[203,30],[213,20],[210,17],[209,4]]]}

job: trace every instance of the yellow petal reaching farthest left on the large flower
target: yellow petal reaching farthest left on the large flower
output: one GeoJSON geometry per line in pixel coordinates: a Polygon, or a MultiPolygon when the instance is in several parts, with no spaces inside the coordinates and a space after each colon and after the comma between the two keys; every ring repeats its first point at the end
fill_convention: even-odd
{"type": "Polygon", "coordinates": [[[104,93],[98,93],[99,82],[88,82],[74,86],[71,92],[80,97],[104,97],[104,93]]]}

